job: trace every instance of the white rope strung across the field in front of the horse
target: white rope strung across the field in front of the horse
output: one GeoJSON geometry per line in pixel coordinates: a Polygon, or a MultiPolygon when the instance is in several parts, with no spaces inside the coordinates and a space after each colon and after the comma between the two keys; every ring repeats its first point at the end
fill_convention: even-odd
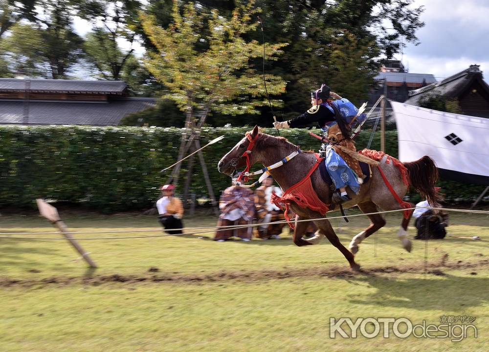
{"type": "MultiPolygon", "coordinates": [[[[437,207],[413,207],[406,209],[396,209],[396,210],[385,210],[378,211],[373,213],[361,213],[354,215],[346,215],[346,216],[333,216],[333,217],[323,217],[317,219],[304,219],[297,220],[296,222],[309,222],[309,221],[319,221],[319,220],[332,220],[332,219],[342,219],[344,217],[356,217],[356,216],[366,216],[366,215],[374,215],[374,214],[385,214],[392,213],[398,211],[412,210],[416,208],[426,208],[426,209],[437,209],[437,210],[446,210],[446,211],[454,211],[454,212],[466,212],[466,213],[475,213],[475,214],[488,214],[487,210],[468,210],[468,209],[452,209],[452,208],[437,208],[437,207]]],[[[243,226],[211,226],[211,227],[200,227],[200,228],[174,228],[171,230],[188,230],[188,229],[213,229],[217,228],[216,231],[224,231],[226,229],[240,229],[240,228],[250,228],[255,226],[264,226],[264,225],[276,225],[276,224],[284,224],[287,223],[286,220],[282,221],[274,221],[270,223],[259,223],[259,224],[250,224],[243,226]]],[[[91,234],[91,233],[127,233],[127,232],[152,232],[152,231],[162,231],[163,229],[151,229],[151,230],[122,230],[122,231],[89,231],[89,232],[70,232],[70,234],[91,234]]],[[[155,237],[167,237],[167,236],[182,236],[182,235],[192,235],[192,234],[200,234],[200,233],[208,233],[209,231],[198,231],[198,232],[187,232],[187,233],[179,233],[179,234],[161,234],[161,235],[150,235],[150,236],[126,236],[126,237],[85,237],[85,238],[76,238],[77,240],[119,240],[119,239],[130,239],[130,238],[155,238],[155,237]]],[[[0,232],[0,238],[8,238],[8,239],[24,239],[24,240],[65,240],[65,238],[49,238],[49,237],[11,237],[11,236],[3,236],[3,235],[33,235],[33,234],[60,234],[61,232],[0,232]]]]}

